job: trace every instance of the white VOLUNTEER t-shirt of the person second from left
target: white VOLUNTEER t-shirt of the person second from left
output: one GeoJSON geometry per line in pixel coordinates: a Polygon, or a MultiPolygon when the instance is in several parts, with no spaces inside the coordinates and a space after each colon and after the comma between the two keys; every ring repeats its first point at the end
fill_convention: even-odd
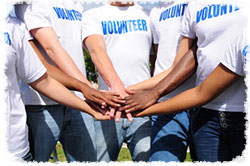
{"type": "MultiPolygon", "coordinates": [[[[29,31],[41,27],[52,27],[62,47],[71,56],[83,75],[86,76],[81,38],[83,8],[78,0],[32,0],[30,4],[16,5],[15,9],[17,17],[24,20],[29,31]]],[[[38,45],[38,48],[43,52],[46,59],[51,62],[40,45],[38,45]]],[[[57,104],[39,94],[27,84],[22,83],[21,87],[22,97],[26,105],[57,104]]],[[[75,93],[77,96],[83,97],[81,93],[75,93]]]]}

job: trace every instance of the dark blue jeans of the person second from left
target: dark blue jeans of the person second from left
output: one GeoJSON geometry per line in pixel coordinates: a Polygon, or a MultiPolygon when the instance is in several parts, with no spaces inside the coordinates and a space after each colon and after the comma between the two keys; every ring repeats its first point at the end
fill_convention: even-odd
{"type": "Polygon", "coordinates": [[[93,118],[64,107],[26,106],[30,147],[35,161],[48,161],[58,141],[68,162],[96,161],[93,118]]]}

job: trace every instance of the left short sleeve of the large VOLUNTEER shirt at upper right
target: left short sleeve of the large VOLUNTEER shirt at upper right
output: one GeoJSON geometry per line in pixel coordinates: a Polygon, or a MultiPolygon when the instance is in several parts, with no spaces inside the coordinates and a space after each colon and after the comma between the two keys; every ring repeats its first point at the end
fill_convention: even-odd
{"type": "Polygon", "coordinates": [[[196,15],[194,11],[195,3],[190,2],[184,12],[184,15],[181,20],[180,34],[182,36],[194,39],[196,37],[193,29],[193,20],[196,15]]]}

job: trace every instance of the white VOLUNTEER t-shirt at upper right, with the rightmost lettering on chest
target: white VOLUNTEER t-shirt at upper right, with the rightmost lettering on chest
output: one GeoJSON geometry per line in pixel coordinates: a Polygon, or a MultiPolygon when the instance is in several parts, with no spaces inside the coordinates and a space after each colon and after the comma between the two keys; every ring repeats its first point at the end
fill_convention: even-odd
{"type": "MultiPolygon", "coordinates": [[[[196,85],[199,85],[219,64],[219,56],[232,42],[232,34],[245,24],[246,17],[239,10],[237,2],[229,0],[191,1],[183,16],[181,33],[183,36],[198,38],[196,85]]],[[[216,81],[216,80],[215,80],[216,81]]],[[[243,95],[240,88],[243,82],[237,81],[221,95],[204,107],[219,111],[241,112],[243,95]]]]}

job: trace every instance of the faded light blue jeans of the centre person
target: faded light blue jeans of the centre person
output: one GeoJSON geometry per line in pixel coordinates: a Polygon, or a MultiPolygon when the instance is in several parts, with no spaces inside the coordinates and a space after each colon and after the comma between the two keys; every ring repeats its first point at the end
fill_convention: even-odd
{"type": "Polygon", "coordinates": [[[149,117],[134,118],[129,122],[121,118],[95,121],[96,150],[98,161],[116,161],[123,142],[127,143],[133,161],[148,161],[151,137],[151,121],[149,117]]]}

